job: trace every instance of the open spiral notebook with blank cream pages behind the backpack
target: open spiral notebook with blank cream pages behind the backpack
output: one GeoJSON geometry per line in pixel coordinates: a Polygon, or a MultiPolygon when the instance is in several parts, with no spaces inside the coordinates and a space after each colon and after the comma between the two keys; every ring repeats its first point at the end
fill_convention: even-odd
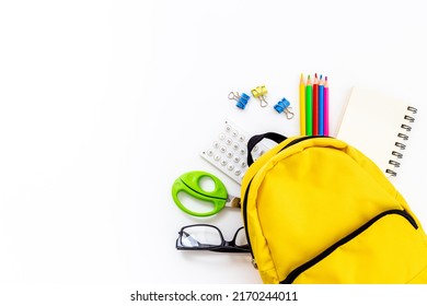
{"type": "Polygon", "coordinates": [[[404,101],[355,86],[337,138],[370,157],[392,179],[402,166],[416,113],[404,101]]]}

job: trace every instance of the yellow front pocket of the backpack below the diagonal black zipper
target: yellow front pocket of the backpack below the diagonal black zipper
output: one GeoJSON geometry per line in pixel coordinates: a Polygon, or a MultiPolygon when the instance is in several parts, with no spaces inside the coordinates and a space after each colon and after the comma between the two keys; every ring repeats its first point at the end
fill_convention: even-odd
{"type": "Polygon", "coordinates": [[[406,283],[425,268],[426,238],[404,210],[389,210],[292,270],[286,283],[406,283]],[[417,260],[419,259],[419,260],[417,260]]]}

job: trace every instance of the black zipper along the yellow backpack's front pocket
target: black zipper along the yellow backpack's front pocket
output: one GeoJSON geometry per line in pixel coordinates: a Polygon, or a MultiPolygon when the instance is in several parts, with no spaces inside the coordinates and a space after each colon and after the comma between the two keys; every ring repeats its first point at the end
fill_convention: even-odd
{"type": "Polygon", "coordinates": [[[374,217],[372,217],[371,220],[369,220],[367,223],[365,223],[362,226],[360,226],[359,228],[357,228],[356,231],[354,231],[353,233],[350,233],[349,235],[345,236],[344,238],[342,238],[341,240],[338,240],[337,243],[335,243],[334,245],[332,245],[331,247],[328,247],[327,249],[325,249],[324,251],[322,251],[320,255],[318,255],[316,257],[314,257],[313,259],[307,261],[305,263],[301,264],[300,267],[296,268],[295,270],[292,270],[288,276],[282,280],[280,282],[280,284],[291,284],[293,283],[293,281],[301,274],[303,273],[304,271],[307,271],[308,269],[310,269],[311,267],[313,267],[314,264],[316,264],[318,262],[320,262],[321,260],[325,259],[327,256],[330,256],[334,250],[336,250],[338,247],[347,244],[348,242],[350,242],[351,239],[356,238],[358,235],[360,235],[361,233],[363,233],[365,231],[367,231],[372,224],[374,224],[377,221],[379,221],[380,219],[384,217],[385,215],[389,215],[389,214],[399,214],[399,215],[402,215],[403,217],[405,217],[412,226],[414,226],[415,229],[418,228],[418,225],[417,223],[415,222],[414,217],[405,210],[388,210],[388,211],[384,211],[378,215],[376,215],[374,217]]]}

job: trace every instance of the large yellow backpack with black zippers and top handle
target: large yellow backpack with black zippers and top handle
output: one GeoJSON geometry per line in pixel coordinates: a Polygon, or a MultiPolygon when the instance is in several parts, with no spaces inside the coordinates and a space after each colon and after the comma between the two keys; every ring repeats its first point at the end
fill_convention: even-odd
{"type": "Polygon", "coordinates": [[[286,139],[242,181],[242,217],[264,283],[427,283],[427,236],[380,168],[326,137],[286,139]]]}

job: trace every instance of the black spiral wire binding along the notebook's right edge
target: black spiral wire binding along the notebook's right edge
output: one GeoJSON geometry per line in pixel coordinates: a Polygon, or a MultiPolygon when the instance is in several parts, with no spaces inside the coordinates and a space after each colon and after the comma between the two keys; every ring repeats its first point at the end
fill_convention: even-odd
{"type": "Polygon", "coordinates": [[[401,166],[401,162],[397,162],[396,160],[403,158],[403,153],[401,151],[406,149],[406,144],[404,143],[406,140],[409,139],[408,132],[411,132],[412,127],[411,123],[415,121],[415,114],[417,114],[417,109],[413,106],[408,106],[407,108],[408,115],[405,115],[403,119],[405,120],[405,123],[401,125],[402,132],[397,133],[397,139],[394,143],[394,145],[397,148],[396,151],[392,151],[392,155],[395,157],[394,160],[389,160],[389,164],[393,166],[393,168],[385,169],[385,173],[391,176],[397,176],[397,170],[395,168],[399,168],[401,166]]]}

